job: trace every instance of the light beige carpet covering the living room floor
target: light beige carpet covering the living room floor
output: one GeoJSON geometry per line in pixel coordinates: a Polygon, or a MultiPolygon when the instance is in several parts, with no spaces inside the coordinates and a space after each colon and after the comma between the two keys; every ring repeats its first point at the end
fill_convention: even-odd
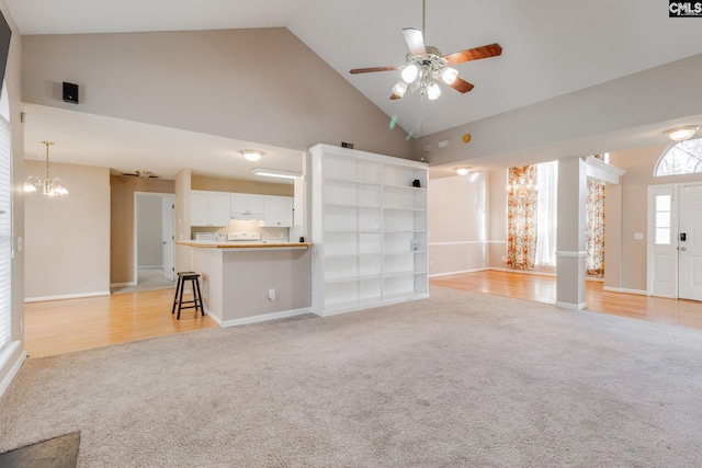
{"type": "Polygon", "coordinates": [[[80,467],[691,467],[702,331],[478,293],[30,358],[0,452],[80,467]]]}

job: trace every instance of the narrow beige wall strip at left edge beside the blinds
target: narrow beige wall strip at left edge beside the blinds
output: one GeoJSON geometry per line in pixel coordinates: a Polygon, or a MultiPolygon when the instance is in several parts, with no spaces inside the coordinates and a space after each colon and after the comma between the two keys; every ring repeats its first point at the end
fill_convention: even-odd
{"type": "Polygon", "coordinates": [[[24,238],[24,193],[22,183],[24,181],[24,128],[20,119],[22,112],[21,103],[21,59],[22,38],[10,14],[10,10],[4,0],[0,0],[0,10],[12,28],[12,39],[10,42],[10,53],[8,55],[8,66],[5,68],[4,81],[10,103],[10,126],[12,135],[12,237],[13,255],[11,263],[12,271],[12,330],[11,340],[13,351],[7,356],[7,361],[0,362],[0,393],[4,390],[13,373],[19,369],[24,353],[24,260],[25,250],[18,249],[18,240],[24,238]]]}

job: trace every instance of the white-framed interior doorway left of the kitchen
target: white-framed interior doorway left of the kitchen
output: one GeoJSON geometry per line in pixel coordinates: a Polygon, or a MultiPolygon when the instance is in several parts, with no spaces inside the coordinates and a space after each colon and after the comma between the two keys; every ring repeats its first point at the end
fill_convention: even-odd
{"type": "Polygon", "coordinates": [[[166,193],[134,194],[134,278],[137,288],[173,287],[174,204],[166,193]]]}

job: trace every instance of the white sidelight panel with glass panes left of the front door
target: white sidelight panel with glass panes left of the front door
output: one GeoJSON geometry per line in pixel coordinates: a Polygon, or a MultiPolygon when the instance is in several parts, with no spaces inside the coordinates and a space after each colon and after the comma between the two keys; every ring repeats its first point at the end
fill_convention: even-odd
{"type": "Polygon", "coordinates": [[[648,295],[678,296],[677,187],[648,187],[648,295]]]}

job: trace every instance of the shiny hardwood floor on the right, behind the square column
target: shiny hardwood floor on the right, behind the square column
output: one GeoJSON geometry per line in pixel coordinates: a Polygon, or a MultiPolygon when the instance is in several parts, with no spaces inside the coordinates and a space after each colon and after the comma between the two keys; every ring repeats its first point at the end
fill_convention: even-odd
{"type": "MultiPolygon", "coordinates": [[[[556,278],[553,276],[484,271],[430,279],[430,284],[475,290],[540,303],[556,301],[556,278]]],[[[636,294],[603,290],[601,282],[587,282],[587,309],[642,320],[702,329],[702,303],[666,299],[636,294]]]]}

